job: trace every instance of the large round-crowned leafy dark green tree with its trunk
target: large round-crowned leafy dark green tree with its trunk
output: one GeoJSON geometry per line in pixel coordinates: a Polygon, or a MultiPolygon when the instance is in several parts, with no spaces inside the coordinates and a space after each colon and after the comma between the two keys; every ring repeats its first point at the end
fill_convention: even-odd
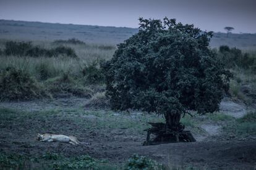
{"type": "Polygon", "coordinates": [[[139,20],[139,33],[119,44],[105,65],[111,107],[163,115],[166,123],[149,129],[156,142],[189,141],[181,116],[218,110],[231,75],[208,47],[211,32],[175,19],[139,20]]]}

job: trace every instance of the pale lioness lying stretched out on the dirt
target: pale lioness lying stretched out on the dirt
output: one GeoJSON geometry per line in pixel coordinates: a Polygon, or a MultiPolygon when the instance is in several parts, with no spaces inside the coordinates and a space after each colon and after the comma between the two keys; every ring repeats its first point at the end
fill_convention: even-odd
{"type": "Polygon", "coordinates": [[[37,140],[41,142],[64,142],[64,143],[69,143],[72,145],[76,144],[90,144],[86,142],[79,142],[76,137],[74,136],[66,136],[66,135],[56,135],[56,134],[38,134],[37,135],[37,140]]]}

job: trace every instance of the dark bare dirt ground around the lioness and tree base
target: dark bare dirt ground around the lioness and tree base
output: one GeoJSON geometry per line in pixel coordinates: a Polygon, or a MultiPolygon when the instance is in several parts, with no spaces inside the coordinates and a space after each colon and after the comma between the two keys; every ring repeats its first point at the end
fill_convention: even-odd
{"type": "MultiPolygon", "coordinates": [[[[195,134],[200,139],[199,142],[142,146],[146,132],[142,129],[136,131],[139,129],[137,124],[145,124],[148,119],[153,118],[144,122],[140,120],[143,118],[140,113],[122,116],[121,113],[111,111],[85,111],[85,102],[86,99],[69,98],[0,103],[0,107],[25,110],[10,113],[0,121],[0,151],[28,156],[45,152],[62,153],[65,156],[88,154],[114,164],[122,164],[137,153],[153,158],[170,169],[256,168],[256,139],[222,139],[221,124],[203,122],[200,127],[205,134],[195,134]],[[50,111],[42,112],[44,110],[50,111]],[[38,132],[74,135],[91,145],[38,142],[35,139],[38,132]]],[[[221,104],[221,109],[226,109],[227,114],[232,112],[234,117],[241,116],[241,110],[245,114],[246,108],[243,105],[237,111],[233,107],[225,107],[232,104],[234,103],[226,100],[221,104]]]]}

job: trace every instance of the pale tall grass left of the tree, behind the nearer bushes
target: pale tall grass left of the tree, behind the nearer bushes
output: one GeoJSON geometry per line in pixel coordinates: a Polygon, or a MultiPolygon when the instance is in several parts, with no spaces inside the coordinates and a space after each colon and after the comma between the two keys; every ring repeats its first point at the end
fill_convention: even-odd
{"type": "MultiPolygon", "coordinates": [[[[33,42],[36,46],[50,48],[54,45],[48,41],[33,42]]],[[[64,45],[67,46],[67,45],[64,45]]],[[[60,76],[62,73],[69,72],[72,76],[82,73],[83,67],[95,60],[109,60],[114,54],[114,46],[97,45],[97,44],[69,44],[78,55],[77,59],[70,57],[19,57],[19,56],[0,56],[0,70],[7,67],[14,67],[27,71],[37,79],[41,79],[42,73],[47,71],[49,78],[60,76]],[[45,70],[44,70],[45,69],[45,70]]]]}

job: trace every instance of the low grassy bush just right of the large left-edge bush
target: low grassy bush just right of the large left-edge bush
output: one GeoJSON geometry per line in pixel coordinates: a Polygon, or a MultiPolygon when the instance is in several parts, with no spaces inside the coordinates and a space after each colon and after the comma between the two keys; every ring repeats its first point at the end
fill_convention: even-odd
{"type": "Polygon", "coordinates": [[[47,79],[45,86],[54,97],[58,97],[59,95],[92,97],[92,91],[77,83],[75,79],[70,77],[69,73],[63,73],[62,76],[47,79]]]}

